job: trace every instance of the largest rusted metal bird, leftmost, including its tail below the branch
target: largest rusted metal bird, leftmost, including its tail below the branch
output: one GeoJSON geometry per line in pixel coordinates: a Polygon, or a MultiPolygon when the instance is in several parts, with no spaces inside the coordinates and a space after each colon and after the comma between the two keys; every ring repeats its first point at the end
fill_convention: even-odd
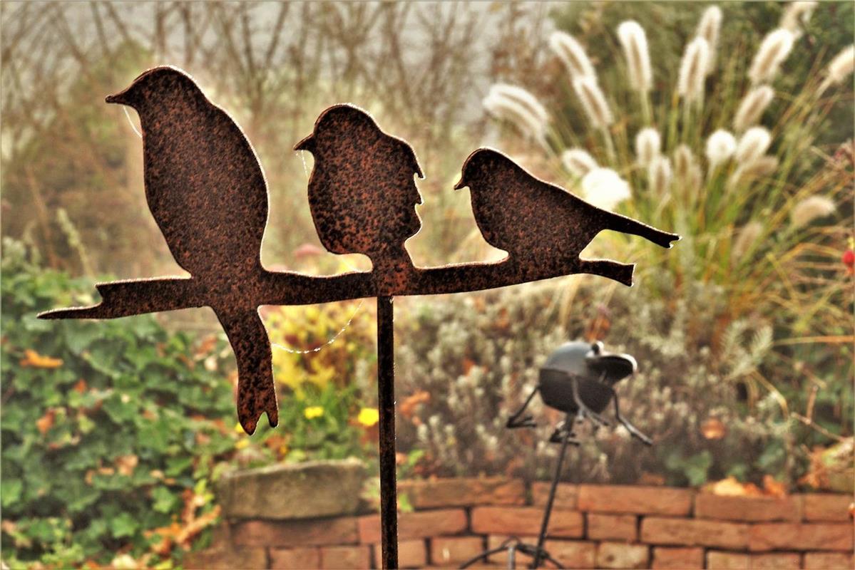
{"type": "Polygon", "coordinates": [[[268,191],[240,127],[177,68],[153,68],[107,103],[132,107],[143,132],[145,197],[169,250],[219,299],[213,309],[238,361],[238,414],[252,433],[278,422],[270,345],[244,287],[263,273],[268,191]]]}

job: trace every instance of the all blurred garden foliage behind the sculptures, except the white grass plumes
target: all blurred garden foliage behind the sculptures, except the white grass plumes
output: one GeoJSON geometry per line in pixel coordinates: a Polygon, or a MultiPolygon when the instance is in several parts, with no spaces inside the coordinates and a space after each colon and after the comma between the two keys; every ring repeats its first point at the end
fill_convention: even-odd
{"type": "MultiPolygon", "coordinates": [[[[271,194],[270,268],[369,267],[322,250],[305,200],[311,156],[291,150],[342,101],[407,138],[428,174],[418,182],[422,232],[408,242],[417,265],[500,255],[477,231],[467,192],[451,190],[481,144],[573,191],[579,179],[561,152],[585,148],[628,180],[632,197],[618,211],[684,234],[668,252],[635,238],[595,240],[588,253],[640,262],[631,289],[572,276],[400,299],[403,476],[546,477],[557,416],[538,408],[534,432],[508,432],[505,417],[558,344],[598,338],[640,362],[619,386],[622,407],[657,445],[640,449],[622,431],[601,430],[567,479],[759,485],[770,476],[789,489],[840,489],[840,480],[851,489],[852,75],[818,102],[808,86],[852,44],[852,3],[817,6],[775,79],[764,125],[786,169],[734,191],[728,167],[695,197],[675,192],[663,203],[634,166],[632,141],[645,124],[616,28],[635,20],[647,30],[653,116],[667,125],[679,112],[684,47],[709,5],[0,4],[4,561],[171,567],[207,539],[218,516],[209,490],[223,469],[348,456],[375,468],[374,303],[262,308],[279,345],[280,426],[252,438],[235,429],[233,356],[208,310],[35,320],[43,309],[91,303],[95,279],[181,273],[145,208],[137,119],[103,103],[164,62],[192,73],[254,144],[271,194]],[[616,111],[614,162],[548,48],[554,30],[572,33],[598,70],[616,111]],[[548,144],[485,115],[481,98],[497,81],[549,109],[548,144]],[[793,228],[793,209],[812,196],[834,211],[793,228]],[[722,214],[716,204],[733,207],[722,214]],[[737,248],[752,221],[762,232],[737,248]]],[[[700,133],[729,128],[751,57],[785,7],[721,9],[724,71],[705,85],[698,156],[700,133]]]]}

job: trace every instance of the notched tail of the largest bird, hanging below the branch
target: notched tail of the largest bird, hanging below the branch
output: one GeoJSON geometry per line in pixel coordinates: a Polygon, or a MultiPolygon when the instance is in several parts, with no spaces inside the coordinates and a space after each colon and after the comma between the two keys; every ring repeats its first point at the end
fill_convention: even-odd
{"type": "Polygon", "coordinates": [[[238,361],[238,418],[252,435],[267,412],[271,427],[279,423],[270,340],[255,308],[214,308],[238,361]]]}

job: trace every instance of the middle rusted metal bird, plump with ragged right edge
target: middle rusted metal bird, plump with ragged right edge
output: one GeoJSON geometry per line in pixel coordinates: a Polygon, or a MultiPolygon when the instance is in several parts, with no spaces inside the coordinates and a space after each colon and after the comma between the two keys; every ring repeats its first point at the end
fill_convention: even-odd
{"type": "Polygon", "coordinates": [[[309,206],[321,244],[336,254],[369,256],[380,277],[406,273],[412,263],[404,241],[422,227],[414,179],[423,178],[422,169],[410,145],[381,131],[362,109],[335,105],[294,149],[315,157],[309,206]]]}

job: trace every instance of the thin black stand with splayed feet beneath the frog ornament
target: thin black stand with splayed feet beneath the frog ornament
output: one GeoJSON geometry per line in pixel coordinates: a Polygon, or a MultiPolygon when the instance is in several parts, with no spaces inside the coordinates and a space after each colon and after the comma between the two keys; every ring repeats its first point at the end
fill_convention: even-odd
{"type": "MultiPolygon", "coordinates": [[[[530,397],[529,397],[530,399],[530,397]]],[[[527,402],[528,403],[528,402],[527,402]]],[[[540,534],[537,538],[537,545],[526,544],[523,543],[522,540],[516,537],[511,537],[505,540],[502,544],[500,544],[497,548],[485,550],[480,555],[475,556],[474,558],[470,558],[468,561],[465,561],[461,568],[467,568],[477,561],[486,561],[486,559],[494,554],[498,554],[499,552],[503,552],[507,550],[508,552],[508,568],[516,567],[516,553],[521,552],[524,555],[530,556],[534,558],[534,562],[532,563],[532,568],[537,568],[540,566],[540,561],[551,562],[554,567],[562,568],[561,564],[552,558],[552,556],[547,552],[543,545],[546,540],[546,530],[549,527],[549,518],[552,514],[552,503],[555,502],[555,492],[558,488],[558,480],[561,479],[561,467],[564,462],[564,455],[567,453],[567,446],[570,444],[579,445],[579,441],[575,439],[575,434],[573,432],[573,426],[575,425],[575,421],[581,421],[583,419],[583,412],[577,412],[575,414],[575,418],[571,418],[571,414],[567,414],[564,418],[563,422],[558,424],[555,429],[555,432],[552,433],[550,441],[553,443],[560,443],[561,450],[558,451],[558,462],[555,466],[555,473],[552,476],[552,485],[549,490],[549,497],[546,499],[546,508],[543,514],[543,522],[540,523],[540,534]]],[[[512,418],[513,420],[513,418],[512,418]]],[[[509,427],[517,427],[516,425],[512,425],[512,421],[508,422],[509,427]]],[[[522,427],[520,425],[519,427],[522,427]]]]}

